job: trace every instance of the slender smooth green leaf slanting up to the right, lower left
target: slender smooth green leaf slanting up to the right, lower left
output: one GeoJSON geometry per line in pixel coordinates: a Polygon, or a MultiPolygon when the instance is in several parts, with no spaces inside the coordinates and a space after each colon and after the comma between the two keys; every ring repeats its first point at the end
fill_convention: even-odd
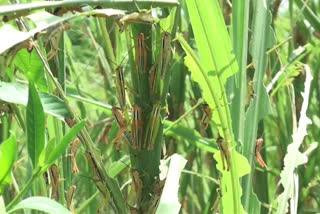
{"type": "Polygon", "coordinates": [[[46,161],[46,165],[51,165],[65,152],[69,143],[77,136],[77,134],[85,125],[86,122],[81,121],[80,123],[72,127],[65,136],[63,136],[58,146],[52,151],[52,153],[50,153],[48,160],[46,161]]]}

